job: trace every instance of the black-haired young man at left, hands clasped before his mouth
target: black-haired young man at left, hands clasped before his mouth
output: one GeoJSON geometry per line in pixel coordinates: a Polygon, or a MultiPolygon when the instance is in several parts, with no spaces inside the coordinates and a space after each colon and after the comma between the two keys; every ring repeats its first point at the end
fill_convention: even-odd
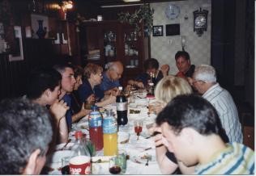
{"type": "Polygon", "coordinates": [[[66,111],[69,107],[66,103],[58,100],[61,93],[62,75],[52,68],[36,68],[32,70],[28,78],[26,95],[33,103],[40,104],[43,107],[49,107],[49,112],[54,118],[54,136],[58,143],[68,140],[68,131],[66,125],[66,111]]]}

